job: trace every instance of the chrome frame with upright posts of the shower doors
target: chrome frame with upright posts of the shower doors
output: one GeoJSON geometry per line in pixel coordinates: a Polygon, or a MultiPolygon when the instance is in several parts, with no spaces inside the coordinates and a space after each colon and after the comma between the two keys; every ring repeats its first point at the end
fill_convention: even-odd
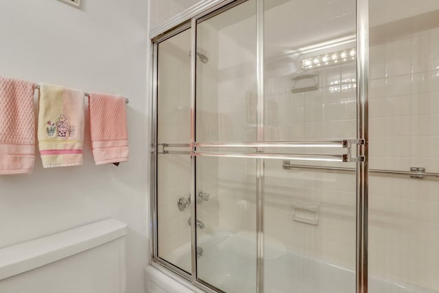
{"type": "MultiPolygon", "coordinates": [[[[264,89],[263,89],[263,0],[257,1],[256,25],[257,25],[257,142],[255,145],[262,145],[264,140],[264,89]],[[260,144],[259,144],[260,143],[260,144]]],[[[352,0],[354,1],[354,0],[352,0]]],[[[368,292],[368,0],[355,0],[357,3],[357,156],[363,158],[357,161],[356,167],[356,293],[368,292]]],[[[191,274],[174,266],[172,263],[158,257],[158,223],[157,223],[157,72],[158,72],[158,43],[171,36],[191,30],[191,201],[195,202],[195,79],[196,79],[196,25],[199,19],[211,12],[220,13],[228,8],[226,5],[235,0],[206,0],[201,1],[191,8],[174,16],[163,25],[157,27],[150,34],[152,40],[152,76],[150,84],[151,91],[151,149],[150,149],[150,264],[158,268],[169,277],[176,279],[181,277],[191,282],[195,288],[204,292],[218,292],[216,288],[201,283],[197,279],[196,267],[196,204],[191,205],[191,274]]],[[[241,3],[242,0],[236,0],[241,3]]],[[[257,147],[257,152],[262,148],[257,147]]],[[[263,172],[264,159],[257,158],[257,293],[263,293],[263,172]]]]}

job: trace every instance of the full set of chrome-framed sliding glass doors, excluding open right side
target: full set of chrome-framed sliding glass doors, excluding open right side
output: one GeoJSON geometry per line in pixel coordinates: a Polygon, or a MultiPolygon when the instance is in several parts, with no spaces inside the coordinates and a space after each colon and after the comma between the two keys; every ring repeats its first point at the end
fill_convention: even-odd
{"type": "Polygon", "coordinates": [[[364,288],[356,15],[224,1],[158,37],[156,261],[207,292],[364,288]]]}

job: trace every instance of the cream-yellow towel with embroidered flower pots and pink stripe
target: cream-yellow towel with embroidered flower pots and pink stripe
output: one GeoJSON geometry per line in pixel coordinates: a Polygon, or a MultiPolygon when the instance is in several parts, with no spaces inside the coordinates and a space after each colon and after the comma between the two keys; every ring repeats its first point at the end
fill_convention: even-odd
{"type": "Polygon", "coordinates": [[[43,167],[82,165],[84,91],[40,84],[38,146],[43,167]]]}

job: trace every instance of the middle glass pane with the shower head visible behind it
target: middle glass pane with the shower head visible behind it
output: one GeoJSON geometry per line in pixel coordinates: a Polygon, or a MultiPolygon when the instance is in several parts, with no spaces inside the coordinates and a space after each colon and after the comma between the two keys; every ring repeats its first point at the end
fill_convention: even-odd
{"type": "MultiPolygon", "coordinates": [[[[196,143],[256,139],[255,12],[251,0],[198,21],[196,143]]],[[[256,160],[211,156],[230,150],[222,145],[196,150],[198,280],[224,292],[255,292],[256,160]]]]}

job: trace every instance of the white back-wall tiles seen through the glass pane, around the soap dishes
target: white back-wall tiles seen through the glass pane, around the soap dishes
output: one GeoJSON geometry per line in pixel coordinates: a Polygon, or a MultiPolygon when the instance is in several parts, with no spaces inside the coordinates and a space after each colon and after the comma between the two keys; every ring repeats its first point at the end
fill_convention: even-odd
{"type": "MultiPolygon", "coordinates": [[[[318,75],[319,89],[305,93],[290,93],[293,74],[266,80],[265,106],[268,110],[265,111],[265,129],[268,131],[265,139],[355,137],[355,89],[334,85],[334,82],[355,78],[355,65],[321,69],[318,75]],[[270,110],[270,103],[277,105],[276,110],[270,110]]],[[[264,187],[264,232],[268,239],[281,240],[295,253],[355,268],[353,174],[285,171],[281,161],[265,160],[264,187]],[[295,202],[318,205],[319,224],[314,226],[294,221],[295,202]]],[[[270,277],[276,272],[265,273],[270,277]]]]}

